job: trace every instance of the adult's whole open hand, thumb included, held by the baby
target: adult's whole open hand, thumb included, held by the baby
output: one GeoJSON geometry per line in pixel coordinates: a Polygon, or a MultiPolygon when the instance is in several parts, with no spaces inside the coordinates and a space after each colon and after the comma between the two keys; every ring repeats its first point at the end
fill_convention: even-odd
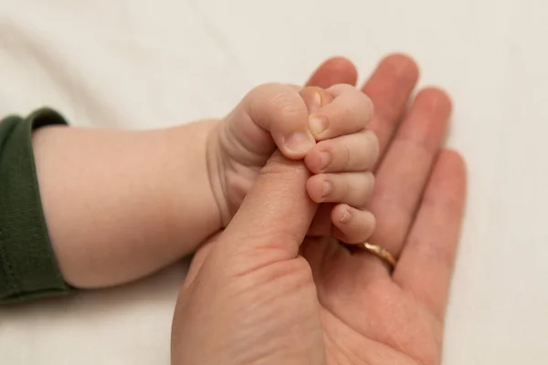
{"type": "MultiPolygon", "coordinates": [[[[308,85],[355,84],[356,75],[332,58],[308,85]]],[[[440,363],[466,172],[442,147],[447,94],[422,89],[409,103],[417,78],[412,59],[391,55],[363,88],[381,151],[369,242],[398,258],[394,272],[332,238],[305,237],[329,207],[299,188],[310,173],[300,162],[274,156],[225,232],[195,256],[175,308],[172,363],[440,363]]]]}

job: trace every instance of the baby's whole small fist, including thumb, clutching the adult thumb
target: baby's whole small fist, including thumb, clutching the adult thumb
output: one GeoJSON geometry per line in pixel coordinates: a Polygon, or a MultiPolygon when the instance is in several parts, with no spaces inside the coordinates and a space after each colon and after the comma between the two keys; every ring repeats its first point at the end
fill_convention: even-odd
{"type": "Polygon", "coordinates": [[[324,90],[266,84],[251,90],[208,142],[210,178],[223,224],[278,148],[287,158],[304,158],[314,173],[307,192],[322,204],[311,234],[347,243],[366,239],[374,228],[374,216],[364,210],[374,187],[367,170],[378,157],[374,133],[364,130],[372,116],[371,101],[349,85],[324,90]]]}

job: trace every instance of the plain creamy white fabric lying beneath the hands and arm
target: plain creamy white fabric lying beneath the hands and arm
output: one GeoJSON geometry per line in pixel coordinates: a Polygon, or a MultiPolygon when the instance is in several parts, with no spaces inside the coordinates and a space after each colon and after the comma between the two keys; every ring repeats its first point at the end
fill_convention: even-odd
{"type": "MultiPolygon", "coordinates": [[[[0,115],[153,128],[224,115],[325,57],[362,77],[390,51],[455,101],[469,203],[444,364],[548,363],[548,5],[543,0],[0,0],[0,115]]],[[[167,364],[175,267],[0,309],[0,364],[167,364]]]]}

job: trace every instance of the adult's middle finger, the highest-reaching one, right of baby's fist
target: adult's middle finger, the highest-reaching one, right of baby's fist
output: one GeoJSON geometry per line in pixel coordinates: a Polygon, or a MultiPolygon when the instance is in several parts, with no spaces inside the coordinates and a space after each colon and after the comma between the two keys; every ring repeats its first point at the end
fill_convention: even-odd
{"type": "Polygon", "coordinates": [[[379,63],[362,89],[373,101],[374,117],[367,128],[373,130],[379,139],[381,156],[406,112],[417,79],[415,61],[405,55],[394,54],[379,63]]]}

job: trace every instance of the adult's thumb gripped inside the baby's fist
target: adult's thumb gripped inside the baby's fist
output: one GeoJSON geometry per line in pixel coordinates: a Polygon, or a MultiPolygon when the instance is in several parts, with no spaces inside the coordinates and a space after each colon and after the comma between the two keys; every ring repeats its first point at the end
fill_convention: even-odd
{"type": "Polygon", "coordinates": [[[219,239],[224,255],[265,266],[299,255],[318,205],[306,192],[310,172],[276,151],[219,239]]]}

